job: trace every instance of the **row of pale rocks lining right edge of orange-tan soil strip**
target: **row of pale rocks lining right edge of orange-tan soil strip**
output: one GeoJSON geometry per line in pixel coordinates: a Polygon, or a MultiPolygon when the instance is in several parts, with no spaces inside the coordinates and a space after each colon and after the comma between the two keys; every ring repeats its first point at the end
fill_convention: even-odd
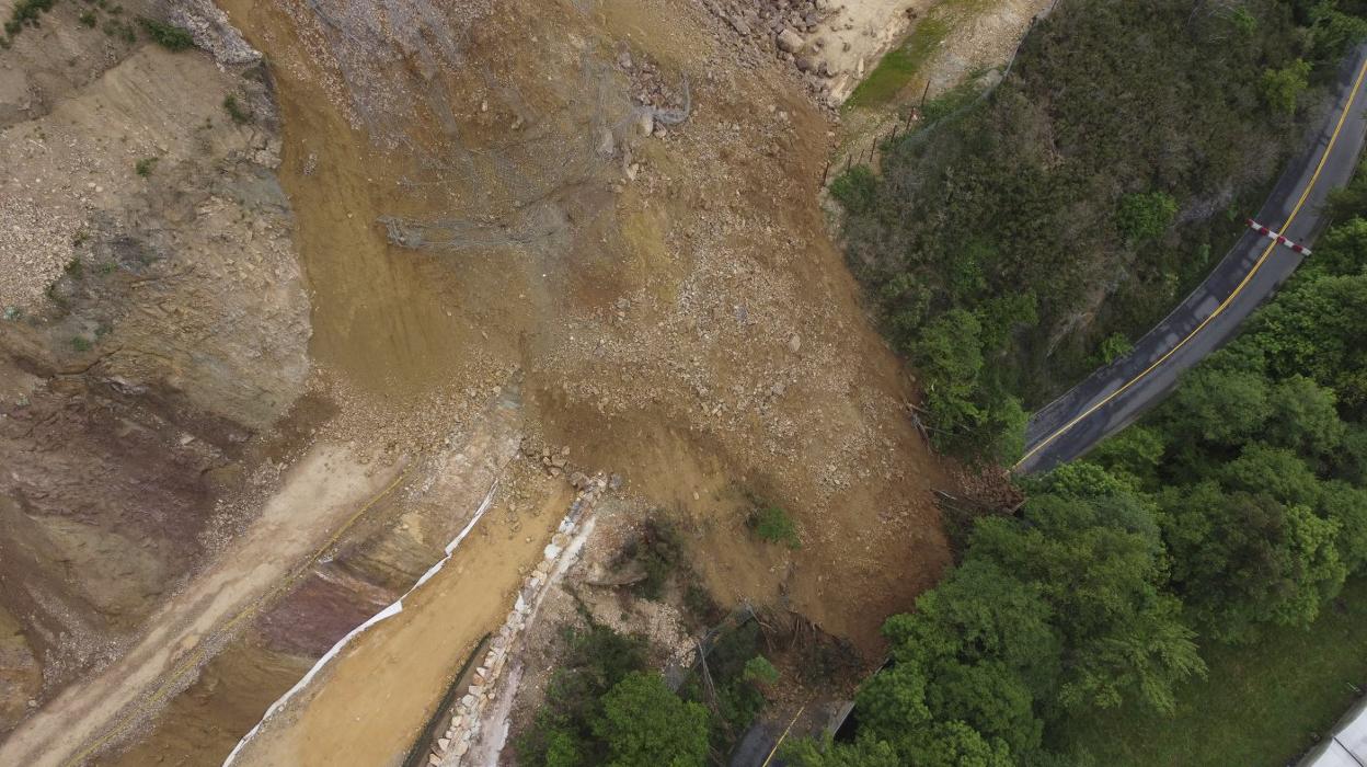
{"type": "MultiPolygon", "coordinates": [[[[599,474],[592,479],[585,477],[582,489],[570,504],[570,511],[560,520],[560,526],[545,547],[541,562],[537,563],[532,574],[522,581],[522,591],[518,593],[513,610],[507,619],[489,643],[489,651],[484,655],[480,666],[474,669],[470,686],[457,701],[451,712],[451,725],[436,738],[432,752],[428,755],[428,764],[433,767],[459,767],[470,744],[480,734],[481,716],[498,695],[499,681],[509,662],[509,655],[526,628],[526,622],[537,604],[545,595],[545,585],[555,577],[556,571],[563,571],[560,565],[570,556],[570,541],[580,530],[582,522],[593,513],[593,506],[608,491],[608,479],[599,474]]],[[[511,690],[507,690],[511,692],[511,690]]]]}

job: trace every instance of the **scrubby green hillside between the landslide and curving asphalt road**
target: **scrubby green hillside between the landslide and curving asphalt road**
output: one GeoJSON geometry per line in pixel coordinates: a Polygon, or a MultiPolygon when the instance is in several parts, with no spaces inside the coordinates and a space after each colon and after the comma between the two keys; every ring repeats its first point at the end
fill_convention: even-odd
{"type": "Polygon", "coordinates": [[[1065,0],[990,98],[833,185],[940,447],[1009,457],[1020,401],[1204,276],[1300,149],[1312,83],[1363,27],[1349,5],[1065,0]]]}

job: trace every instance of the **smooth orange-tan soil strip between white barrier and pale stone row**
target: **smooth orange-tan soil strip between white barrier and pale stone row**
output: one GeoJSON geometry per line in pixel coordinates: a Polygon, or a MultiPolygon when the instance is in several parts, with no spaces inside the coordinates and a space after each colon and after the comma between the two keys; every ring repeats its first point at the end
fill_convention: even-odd
{"type": "Polygon", "coordinates": [[[236,763],[402,762],[465,658],[503,622],[529,570],[518,563],[540,559],[571,498],[566,483],[519,463],[480,532],[405,597],[402,613],[362,633],[264,722],[236,763]],[[517,532],[509,525],[514,507],[530,511],[517,532]]]}

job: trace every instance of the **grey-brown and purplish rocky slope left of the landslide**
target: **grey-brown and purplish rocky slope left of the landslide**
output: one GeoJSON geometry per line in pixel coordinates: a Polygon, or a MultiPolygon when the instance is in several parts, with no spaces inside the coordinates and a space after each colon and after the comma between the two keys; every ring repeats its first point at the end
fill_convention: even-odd
{"type": "Polygon", "coordinates": [[[0,62],[0,731],[250,513],[252,439],[309,373],[265,70],[208,21],[217,60],[82,8],[112,19],[56,4],[0,62]]]}

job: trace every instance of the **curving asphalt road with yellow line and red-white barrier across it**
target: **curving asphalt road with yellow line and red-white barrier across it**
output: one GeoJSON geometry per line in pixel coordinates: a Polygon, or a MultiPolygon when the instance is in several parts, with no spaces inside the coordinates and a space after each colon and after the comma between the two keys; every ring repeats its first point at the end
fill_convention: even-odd
{"type": "MultiPolygon", "coordinates": [[[[1277,182],[1256,220],[1310,246],[1323,228],[1322,208],[1352,176],[1367,134],[1367,44],[1348,56],[1312,144],[1277,182]]],[[[1314,258],[1314,253],[1308,256],[1314,258]]],[[[1239,332],[1239,325],[1300,265],[1301,256],[1252,230],[1206,282],[1135,343],[1036,412],[1025,428],[1025,455],[1014,470],[1048,470],[1081,457],[1156,405],[1178,377],[1239,332]]]]}

